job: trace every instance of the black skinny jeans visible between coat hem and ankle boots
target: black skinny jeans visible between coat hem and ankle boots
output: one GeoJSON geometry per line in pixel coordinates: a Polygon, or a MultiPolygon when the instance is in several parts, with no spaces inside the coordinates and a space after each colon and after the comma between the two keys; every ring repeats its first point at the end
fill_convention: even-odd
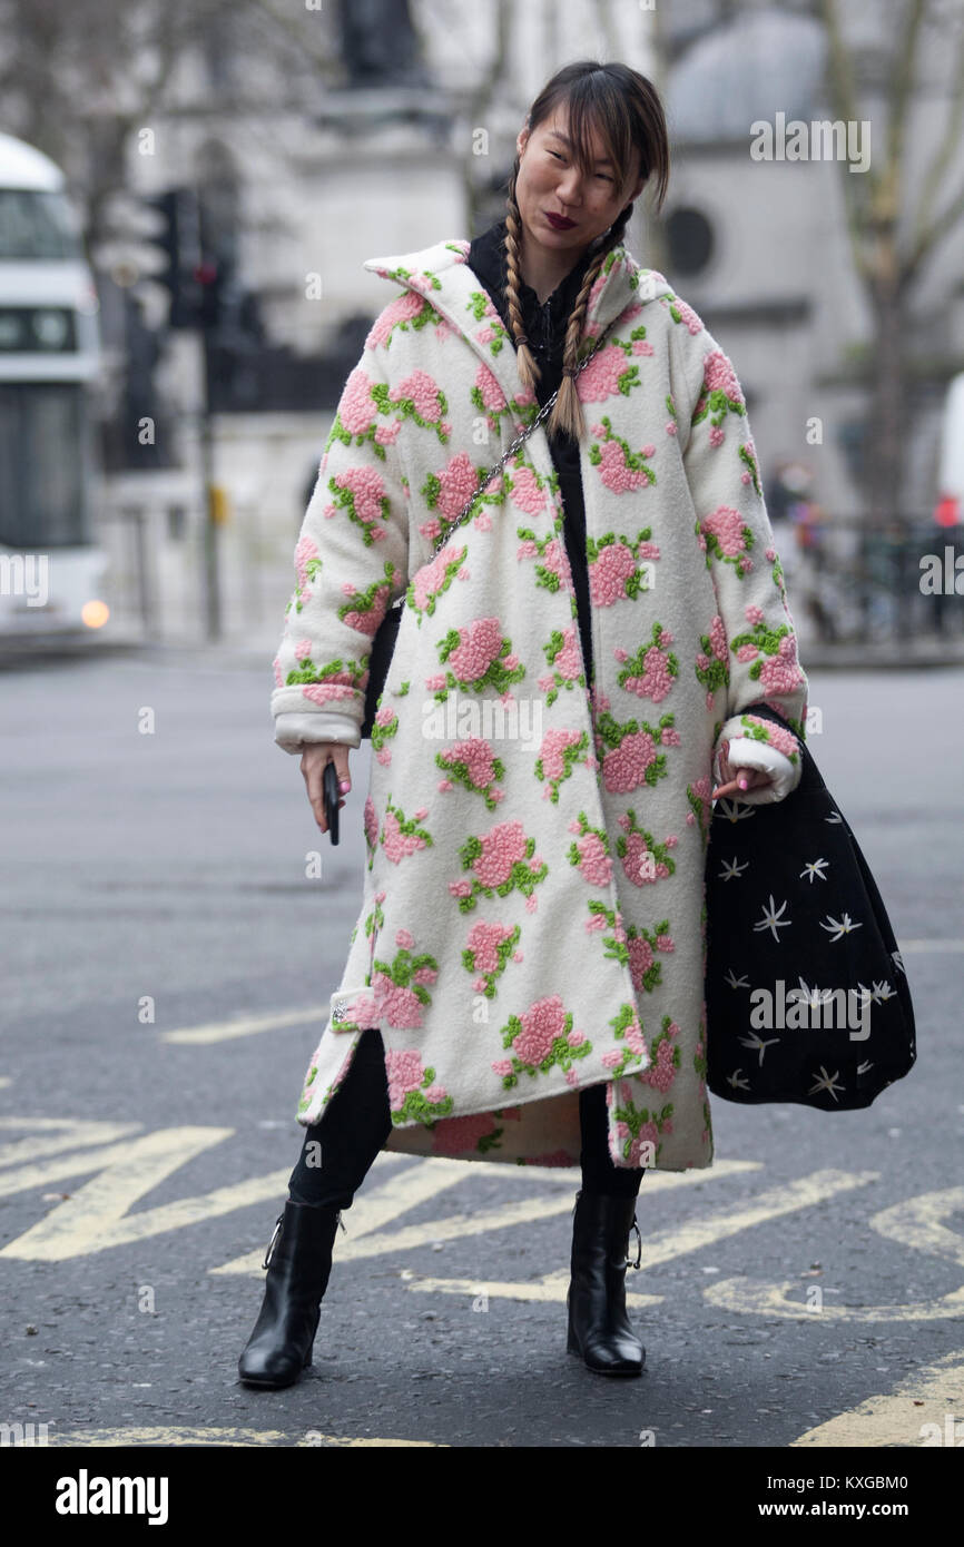
{"type": "MultiPolygon", "coordinates": [[[[616,1166],[607,1143],[605,1084],[590,1084],[579,1092],[582,1129],[582,1185],[586,1193],[636,1197],[645,1166],[616,1166]]],[[[368,1027],[354,1049],[344,1084],[331,1097],[319,1123],[305,1129],[305,1145],[288,1182],[296,1204],[325,1204],[351,1208],[371,1163],[391,1132],[391,1109],[385,1081],[385,1052],[381,1032],[368,1027]],[[311,1143],[320,1145],[320,1165],[311,1143]]]]}

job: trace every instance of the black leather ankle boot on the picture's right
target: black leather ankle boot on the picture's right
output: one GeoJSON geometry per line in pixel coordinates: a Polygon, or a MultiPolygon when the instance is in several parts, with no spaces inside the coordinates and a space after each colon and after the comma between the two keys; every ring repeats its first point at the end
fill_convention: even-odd
{"type": "MultiPolygon", "coordinates": [[[[636,1199],[605,1193],[576,1194],[573,1221],[573,1279],[569,1307],[569,1354],[582,1354],[599,1375],[639,1375],[645,1349],[627,1316],[625,1276],[630,1230],[636,1224],[636,1199]]],[[[639,1267],[642,1238],[633,1267],[639,1267]]]]}

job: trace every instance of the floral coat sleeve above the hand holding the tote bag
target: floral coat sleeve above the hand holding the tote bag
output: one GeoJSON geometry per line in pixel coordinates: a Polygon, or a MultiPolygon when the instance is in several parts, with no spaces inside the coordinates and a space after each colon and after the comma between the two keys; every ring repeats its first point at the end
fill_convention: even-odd
{"type": "Polygon", "coordinates": [[[713,577],[720,647],[726,650],[726,712],[715,732],[713,778],[720,783],[721,756],[733,767],[763,769],[772,783],[746,791],[740,800],[766,804],[800,783],[808,681],[797,661],[797,633],[743,388],[706,328],[687,334],[687,342],[684,467],[696,541],[713,577]],[[791,729],[755,718],[749,713],[754,704],[767,704],[791,729]]]}

